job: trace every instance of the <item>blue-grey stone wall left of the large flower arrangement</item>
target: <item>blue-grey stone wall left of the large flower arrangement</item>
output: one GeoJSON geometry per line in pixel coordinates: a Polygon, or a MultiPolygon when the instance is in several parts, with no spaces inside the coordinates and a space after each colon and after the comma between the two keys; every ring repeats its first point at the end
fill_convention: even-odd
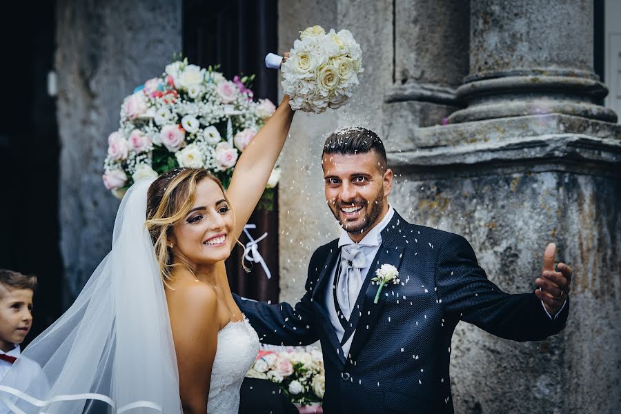
{"type": "Polygon", "coordinates": [[[110,250],[119,201],[103,187],[121,102],[181,51],[181,1],[57,2],[61,253],[70,304],[110,250]]]}

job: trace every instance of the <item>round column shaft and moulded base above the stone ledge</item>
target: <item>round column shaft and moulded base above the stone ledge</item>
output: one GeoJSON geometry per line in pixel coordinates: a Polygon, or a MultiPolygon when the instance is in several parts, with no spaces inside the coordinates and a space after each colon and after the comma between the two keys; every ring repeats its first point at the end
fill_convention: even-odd
{"type": "Polygon", "coordinates": [[[451,122],[559,113],[616,122],[593,72],[590,0],[471,0],[468,108],[451,122]]]}

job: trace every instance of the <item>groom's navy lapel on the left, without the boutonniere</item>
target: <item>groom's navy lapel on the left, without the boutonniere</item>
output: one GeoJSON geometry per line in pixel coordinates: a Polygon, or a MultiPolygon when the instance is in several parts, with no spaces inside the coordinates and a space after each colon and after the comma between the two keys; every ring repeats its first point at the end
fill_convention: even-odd
{"type": "Polygon", "coordinates": [[[334,362],[338,366],[345,364],[345,355],[339,339],[336,336],[334,327],[328,315],[328,308],[326,308],[326,293],[327,289],[331,289],[332,286],[327,286],[331,276],[331,271],[336,264],[337,257],[339,256],[339,244],[338,239],[328,244],[328,254],[325,259],[320,261],[319,264],[324,266],[319,270],[319,277],[317,277],[317,286],[311,296],[313,299],[313,306],[315,307],[315,313],[318,315],[318,324],[324,330],[328,342],[331,345],[331,351],[324,350],[324,355],[333,357],[334,362]]]}

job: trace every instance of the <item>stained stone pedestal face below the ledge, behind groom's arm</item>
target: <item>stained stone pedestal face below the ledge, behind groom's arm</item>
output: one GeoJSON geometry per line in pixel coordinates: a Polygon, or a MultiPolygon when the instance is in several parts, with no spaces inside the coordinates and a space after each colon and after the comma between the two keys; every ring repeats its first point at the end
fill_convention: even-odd
{"type": "Polygon", "coordinates": [[[396,172],[408,177],[392,197],[404,218],[464,235],[506,292],[533,290],[551,241],[575,271],[569,324],[559,335],[519,344],[457,326],[455,412],[613,413],[620,403],[610,390],[621,355],[621,179],[553,166],[396,172]]]}

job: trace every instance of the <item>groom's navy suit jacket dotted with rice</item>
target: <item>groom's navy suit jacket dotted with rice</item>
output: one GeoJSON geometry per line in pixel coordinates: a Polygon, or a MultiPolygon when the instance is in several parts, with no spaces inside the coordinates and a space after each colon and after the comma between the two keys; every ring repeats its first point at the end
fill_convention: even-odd
{"type": "Polygon", "coordinates": [[[315,250],[306,293],[295,308],[235,296],[262,342],[321,341],[325,413],[453,413],[449,357],[457,322],[515,341],[544,339],[565,326],[569,303],[553,321],[533,293],[502,292],[464,237],[409,224],[396,212],[381,234],[350,321],[356,331],[349,355],[343,355],[325,304],[337,240],[315,250]],[[377,286],[370,280],[382,264],[397,267],[400,283],[384,287],[374,304],[377,286]]]}

